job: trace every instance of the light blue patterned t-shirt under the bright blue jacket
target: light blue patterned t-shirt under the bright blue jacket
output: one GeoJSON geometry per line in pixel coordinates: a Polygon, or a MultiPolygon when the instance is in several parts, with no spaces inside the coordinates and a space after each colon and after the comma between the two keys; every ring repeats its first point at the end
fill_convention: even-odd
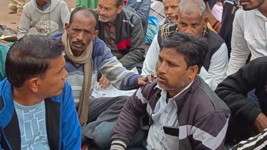
{"type": "Polygon", "coordinates": [[[21,131],[21,150],[50,149],[46,133],[45,101],[33,106],[14,102],[21,131]]]}

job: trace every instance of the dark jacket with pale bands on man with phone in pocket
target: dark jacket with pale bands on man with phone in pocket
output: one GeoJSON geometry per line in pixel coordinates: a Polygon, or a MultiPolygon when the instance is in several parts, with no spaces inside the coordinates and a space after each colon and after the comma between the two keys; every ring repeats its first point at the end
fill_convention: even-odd
{"type": "MultiPolygon", "coordinates": [[[[130,137],[138,132],[140,126],[149,128],[153,123],[149,118],[161,97],[161,90],[156,87],[157,81],[145,84],[124,104],[113,129],[111,149],[117,141],[129,145],[130,137]]],[[[231,112],[212,89],[197,76],[192,85],[174,99],[178,110],[179,140],[175,142],[173,139],[172,142],[179,145],[179,150],[224,149],[224,136],[231,112]]],[[[174,130],[166,128],[164,126],[168,143],[171,141],[168,137],[174,137],[174,130]]]]}

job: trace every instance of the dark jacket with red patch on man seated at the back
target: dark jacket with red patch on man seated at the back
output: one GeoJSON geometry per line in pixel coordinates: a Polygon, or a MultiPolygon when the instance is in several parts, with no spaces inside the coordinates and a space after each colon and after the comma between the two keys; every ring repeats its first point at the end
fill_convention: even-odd
{"type": "MultiPolygon", "coordinates": [[[[116,43],[124,55],[119,61],[125,68],[144,61],[145,36],[140,17],[129,10],[123,9],[115,20],[116,43]]],[[[98,22],[98,37],[104,40],[104,23],[98,22]]]]}

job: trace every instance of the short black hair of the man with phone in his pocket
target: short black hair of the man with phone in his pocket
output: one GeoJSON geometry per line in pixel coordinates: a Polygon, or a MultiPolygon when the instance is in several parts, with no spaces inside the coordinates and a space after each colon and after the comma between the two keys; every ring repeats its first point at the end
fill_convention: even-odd
{"type": "Polygon", "coordinates": [[[184,56],[187,69],[191,66],[203,66],[207,54],[207,39],[192,34],[175,32],[162,41],[162,47],[173,48],[184,56]]]}

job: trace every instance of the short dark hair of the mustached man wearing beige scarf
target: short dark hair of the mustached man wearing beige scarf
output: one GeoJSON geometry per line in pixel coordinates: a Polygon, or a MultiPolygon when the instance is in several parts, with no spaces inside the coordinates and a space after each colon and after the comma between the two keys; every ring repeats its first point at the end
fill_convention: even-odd
{"type": "Polygon", "coordinates": [[[96,19],[96,25],[94,26],[94,29],[97,30],[98,29],[98,16],[97,14],[92,10],[92,9],[89,9],[89,8],[82,8],[82,7],[78,7],[78,8],[75,8],[71,13],[70,13],[70,18],[69,18],[69,25],[71,25],[72,23],[72,17],[75,13],[79,12],[79,11],[84,11],[84,15],[86,17],[90,17],[91,15],[93,15],[94,19],[96,19]]]}

